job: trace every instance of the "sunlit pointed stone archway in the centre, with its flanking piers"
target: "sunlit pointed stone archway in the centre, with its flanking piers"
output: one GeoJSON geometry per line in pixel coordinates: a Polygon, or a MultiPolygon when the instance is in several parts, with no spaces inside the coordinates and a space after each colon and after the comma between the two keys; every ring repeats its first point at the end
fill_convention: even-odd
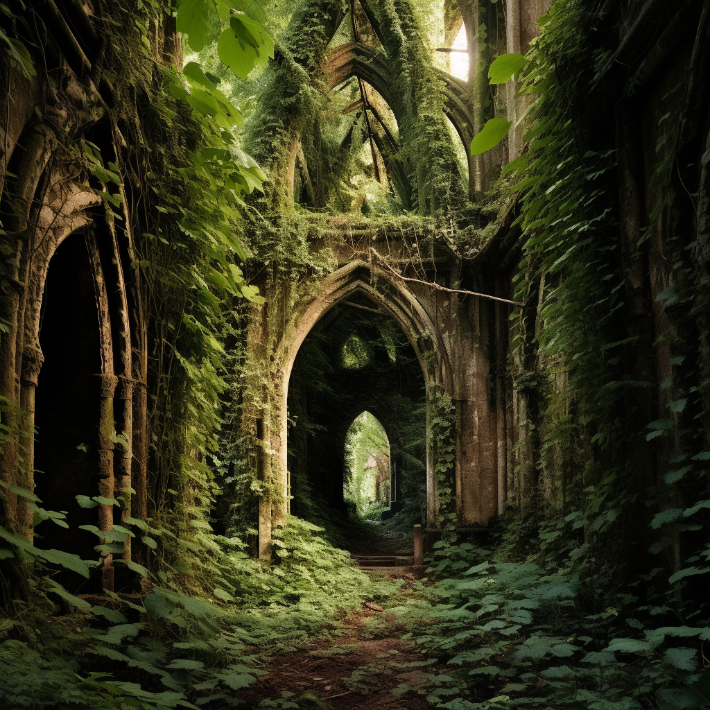
{"type": "MultiPolygon", "coordinates": [[[[393,246],[393,245],[391,245],[393,246]]],[[[511,434],[507,374],[501,363],[506,345],[498,331],[508,306],[475,295],[432,288],[399,278],[391,269],[354,259],[307,287],[266,285],[266,305],[251,320],[248,349],[261,399],[247,414],[256,443],[256,474],[261,482],[259,555],[271,555],[271,530],[288,515],[288,386],[295,356],[324,315],[361,293],[390,315],[413,346],[422,368],[427,403],[444,395],[452,408],[455,459],[449,486],[455,489],[461,530],[480,529],[502,512],[510,477],[511,434]],[[268,381],[269,386],[263,382],[268,381]]],[[[427,437],[430,437],[427,406],[427,437]]],[[[427,439],[427,528],[439,528],[435,461],[427,439]]],[[[447,474],[448,475],[448,474],[447,474]]]]}

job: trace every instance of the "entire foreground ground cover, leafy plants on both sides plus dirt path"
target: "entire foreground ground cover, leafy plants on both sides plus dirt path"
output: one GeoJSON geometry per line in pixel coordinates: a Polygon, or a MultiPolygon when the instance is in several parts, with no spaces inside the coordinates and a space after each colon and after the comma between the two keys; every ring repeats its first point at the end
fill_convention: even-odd
{"type": "Polygon", "coordinates": [[[187,594],[187,574],[146,571],[143,594],[100,600],[35,579],[0,622],[0,707],[708,706],[708,604],[679,601],[660,569],[605,606],[592,579],[542,556],[437,543],[430,579],[395,581],[320,532],[291,518],[271,567],[222,539],[212,594],[187,594]]]}

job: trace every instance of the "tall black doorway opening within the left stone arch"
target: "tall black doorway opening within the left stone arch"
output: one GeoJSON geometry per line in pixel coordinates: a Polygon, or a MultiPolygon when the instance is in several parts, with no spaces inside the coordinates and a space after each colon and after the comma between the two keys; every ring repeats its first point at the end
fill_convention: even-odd
{"type": "MultiPolygon", "coordinates": [[[[44,364],[35,394],[35,494],[43,508],[65,511],[69,527],[40,523],[35,545],[98,560],[99,540],[78,529],[97,525],[97,509],[82,508],[75,498],[98,494],[99,383],[92,376],[101,371],[94,275],[81,234],[67,237],[51,258],[39,338],[44,364]]],[[[82,580],[72,576],[72,586],[74,581],[82,580]]]]}

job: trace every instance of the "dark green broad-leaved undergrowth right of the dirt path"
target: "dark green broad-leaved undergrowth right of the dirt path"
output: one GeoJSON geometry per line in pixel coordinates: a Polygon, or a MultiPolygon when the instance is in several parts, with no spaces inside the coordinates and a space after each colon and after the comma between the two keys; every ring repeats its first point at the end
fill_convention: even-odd
{"type": "MultiPolygon", "coordinates": [[[[651,577],[595,609],[589,583],[559,567],[492,562],[469,543],[440,548],[437,581],[395,609],[435,667],[438,708],[676,710],[710,706],[707,604],[691,612],[651,577]],[[640,603],[641,592],[648,602],[640,603]],[[687,614],[690,618],[684,618],[687,614]]],[[[656,574],[660,569],[656,571],[656,574]]],[[[660,581],[660,580],[659,580],[660,581]]],[[[403,684],[398,692],[410,692],[403,684]]]]}

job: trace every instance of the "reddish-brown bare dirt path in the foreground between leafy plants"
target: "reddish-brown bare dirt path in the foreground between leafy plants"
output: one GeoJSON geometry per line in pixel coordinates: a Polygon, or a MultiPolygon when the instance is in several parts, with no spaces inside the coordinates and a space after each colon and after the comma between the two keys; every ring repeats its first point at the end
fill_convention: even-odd
{"type": "MultiPolygon", "coordinates": [[[[337,640],[271,658],[266,675],[258,679],[245,699],[254,706],[282,693],[307,694],[318,701],[300,708],[332,710],[423,710],[430,707],[416,692],[393,693],[400,684],[416,688],[424,681],[423,657],[413,644],[396,635],[395,617],[386,609],[363,606],[343,623],[337,640]],[[416,664],[416,665],[412,665],[416,664]]],[[[295,701],[295,697],[290,697],[295,701]]],[[[279,708],[280,704],[273,707],[279,708]]]]}

